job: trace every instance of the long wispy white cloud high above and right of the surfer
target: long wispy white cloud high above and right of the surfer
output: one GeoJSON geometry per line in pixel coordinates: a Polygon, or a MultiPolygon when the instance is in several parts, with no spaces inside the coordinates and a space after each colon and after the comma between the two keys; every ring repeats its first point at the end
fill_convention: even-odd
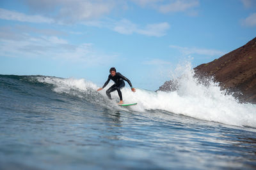
{"type": "Polygon", "coordinates": [[[170,29],[170,25],[167,22],[161,22],[156,24],[148,24],[145,26],[140,26],[134,24],[130,20],[123,19],[120,21],[106,20],[106,22],[90,21],[83,22],[84,25],[95,26],[95,27],[106,27],[112,31],[118,32],[120,34],[141,34],[145,36],[156,36],[161,37],[166,34],[166,31],[170,29]]]}

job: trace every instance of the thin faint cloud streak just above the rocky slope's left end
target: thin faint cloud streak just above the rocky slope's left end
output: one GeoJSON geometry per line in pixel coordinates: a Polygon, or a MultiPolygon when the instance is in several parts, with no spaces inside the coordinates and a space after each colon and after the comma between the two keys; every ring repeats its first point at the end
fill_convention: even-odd
{"type": "Polygon", "coordinates": [[[219,50],[212,50],[212,49],[205,49],[205,48],[188,48],[188,47],[182,47],[182,46],[176,46],[176,45],[170,45],[170,48],[174,48],[179,50],[183,55],[189,55],[189,54],[199,54],[199,55],[224,55],[225,52],[221,52],[219,50]]]}

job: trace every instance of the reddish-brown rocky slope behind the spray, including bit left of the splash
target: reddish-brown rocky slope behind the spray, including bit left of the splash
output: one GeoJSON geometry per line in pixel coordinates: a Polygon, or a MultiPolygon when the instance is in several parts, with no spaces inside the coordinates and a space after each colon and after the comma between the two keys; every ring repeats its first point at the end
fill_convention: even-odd
{"type": "MultiPolygon", "coordinates": [[[[198,76],[214,76],[225,89],[241,92],[237,96],[241,101],[256,103],[256,38],[219,59],[195,67],[194,70],[198,76]]],[[[168,82],[172,81],[166,81],[159,90],[166,91],[164,87],[168,87],[168,82]]]]}

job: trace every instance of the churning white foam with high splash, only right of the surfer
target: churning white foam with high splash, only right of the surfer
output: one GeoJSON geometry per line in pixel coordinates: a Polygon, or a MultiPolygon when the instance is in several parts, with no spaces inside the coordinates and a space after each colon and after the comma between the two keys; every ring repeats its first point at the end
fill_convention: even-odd
{"type": "Polygon", "coordinates": [[[193,78],[190,64],[183,67],[183,75],[177,79],[179,90],[174,92],[149,92],[137,89],[132,93],[124,89],[123,98],[136,101],[138,111],[166,110],[189,117],[221,122],[223,124],[256,127],[256,105],[239,103],[232,95],[225,95],[218,83],[209,80],[205,86],[193,78]]]}

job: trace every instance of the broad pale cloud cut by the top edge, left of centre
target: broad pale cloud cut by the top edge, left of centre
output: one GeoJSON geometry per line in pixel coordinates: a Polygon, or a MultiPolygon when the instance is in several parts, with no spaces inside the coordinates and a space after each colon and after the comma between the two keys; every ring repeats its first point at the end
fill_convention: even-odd
{"type": "Polygon", "coordinates": [[[26,0],[25,2],[36,13],[43,15],[55,13],[52,18],[56,22],[65,24],[102,17],[110,13],[117,4],[120,4],[114,0],[26,0]]]}

